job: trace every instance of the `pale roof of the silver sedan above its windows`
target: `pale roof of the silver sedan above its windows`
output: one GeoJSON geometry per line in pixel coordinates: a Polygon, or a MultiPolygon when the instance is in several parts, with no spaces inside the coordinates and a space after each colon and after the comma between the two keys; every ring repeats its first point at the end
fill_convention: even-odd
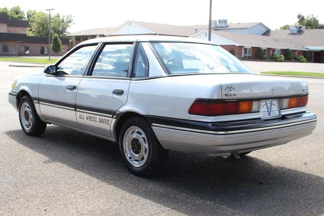
{"type": "Polygon", "coordinates": [[[177,37],[177,36],[160,36],[160,35],[126,35],[126,36],[109,36],[102,38],[94,38],[86,40],[79,45],[100,43],[100,42],[149,42],[149,41],[168,41],[168,42],[186,42],[186,43],[202,43],[217,45],[213,42],[200,40],[195,38],[177,37]]]}

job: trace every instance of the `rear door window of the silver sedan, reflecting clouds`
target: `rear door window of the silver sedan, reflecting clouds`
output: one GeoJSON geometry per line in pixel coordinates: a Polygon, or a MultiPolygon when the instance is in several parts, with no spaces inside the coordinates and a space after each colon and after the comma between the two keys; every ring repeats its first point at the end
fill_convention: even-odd
{"type": "Polygon", "coordinates": [[[92,70],[93,76],[127,76],[133,44],[107,44],[92,70]]]}

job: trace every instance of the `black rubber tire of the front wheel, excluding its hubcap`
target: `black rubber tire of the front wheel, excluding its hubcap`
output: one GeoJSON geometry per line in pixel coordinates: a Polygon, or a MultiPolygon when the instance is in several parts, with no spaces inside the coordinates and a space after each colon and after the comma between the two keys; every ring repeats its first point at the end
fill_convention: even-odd
{"type": "MultiPolygon", "coordinates": [[[[22,127],[23,131],[25,132],[25,134],[27,134],[28,136],[39,136],[41,134],[43,134],[46,130],[46,123],[43,122],[39,116],[37,115],[37,112],[35,110],[35,106],[34,103],[32,101],[32,99],[29,96],[23,96],[20,101],[19,101],[19,122],[20,122],[20,126],[22,127]],[[22,122],[22,117],[21,117],[21,109],[23,104],[27,103],[30,107],[30,112],[32,113],[32,118],[31,118],[31,128],[27,129],[26,127],[24,127],[23,122],[22,122]]],[[[26,114],[26,117],[24,115],[23,118],[28,118],[28,112],[26,114]]]]}

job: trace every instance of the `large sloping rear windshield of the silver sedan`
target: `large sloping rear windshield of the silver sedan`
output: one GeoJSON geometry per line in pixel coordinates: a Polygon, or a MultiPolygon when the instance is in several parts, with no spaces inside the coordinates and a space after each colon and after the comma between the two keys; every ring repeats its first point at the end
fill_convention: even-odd
{"type": "Polygon", "coordinates": [[[151,45],[170,74],[253,73],[220,46],[181,42],[152,42],[151,45]]]}

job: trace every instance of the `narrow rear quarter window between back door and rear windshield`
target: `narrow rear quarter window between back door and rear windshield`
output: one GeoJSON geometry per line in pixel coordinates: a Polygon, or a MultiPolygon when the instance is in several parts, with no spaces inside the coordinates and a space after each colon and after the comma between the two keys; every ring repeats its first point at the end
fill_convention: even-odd
{"type": "Polygon", "coordinates": [[[149,76],[149,62],[141,44],[137,47],[134,65],[134,77],[142,78],[149,76]]]}

